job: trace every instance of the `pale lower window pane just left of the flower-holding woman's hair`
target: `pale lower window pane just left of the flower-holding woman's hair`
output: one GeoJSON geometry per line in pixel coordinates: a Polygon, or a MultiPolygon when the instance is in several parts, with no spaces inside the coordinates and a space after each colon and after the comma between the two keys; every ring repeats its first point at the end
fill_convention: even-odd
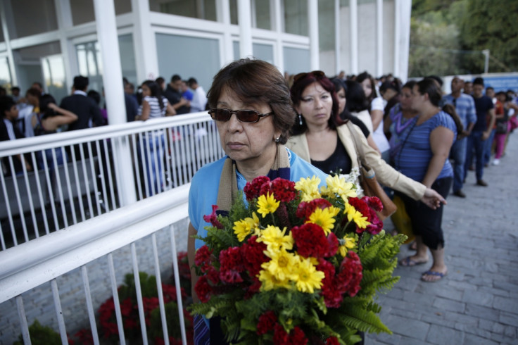
{"type": "Polygon", "coordinates": [[[221,67],[217,39],[156,34],[156,46],[158,71],[166,82],[175,74],[184,80],[194,77],[208,91],[221,67]]]}

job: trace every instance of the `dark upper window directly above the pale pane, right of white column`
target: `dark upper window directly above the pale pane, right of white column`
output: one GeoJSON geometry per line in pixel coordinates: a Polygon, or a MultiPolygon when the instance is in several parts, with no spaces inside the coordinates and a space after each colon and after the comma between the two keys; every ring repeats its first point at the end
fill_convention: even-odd
{"type": "Polygon", "coordinates": [[[215,0],[149,0],[149,8],[154,12],[216,20],[215,0]]]}

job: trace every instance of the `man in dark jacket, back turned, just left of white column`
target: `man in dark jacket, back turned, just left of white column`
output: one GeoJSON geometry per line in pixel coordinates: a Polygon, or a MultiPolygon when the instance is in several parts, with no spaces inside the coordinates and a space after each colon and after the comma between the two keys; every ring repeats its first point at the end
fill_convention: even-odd
{"type": "Polygon", "coordinates": [[[88,77],[77,75],[74,77],[73,93],[66,96],[60,107],[71,111],[77,115],[77,121],[68,125],[68,130],[82,130],[89,127],[89,120],[94,125],[103,125],[103,116],[101,109],[95,103],[94,99],[87,97],[88,77]]]}

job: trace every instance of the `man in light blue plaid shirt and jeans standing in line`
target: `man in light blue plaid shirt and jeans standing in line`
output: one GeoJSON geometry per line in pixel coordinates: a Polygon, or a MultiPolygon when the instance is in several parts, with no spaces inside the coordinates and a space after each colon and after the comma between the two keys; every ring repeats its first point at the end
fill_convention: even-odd
{"type": "Polygon", "coordinates": [[[465,175],[467,137],[471,134],[476,123],[475,102],[472,96],[462,93],[463,87],[462,79],[455,76],[451,80],[451,94],[443,96],[444,103],[455,107],[464,127],[462,134],[459,134],[457,140],[451,146],[450,152],[450,158],[453,159],[453,195],[460,198],[466,197],[466,194],[462,192],[462,186],[465,175]]]}

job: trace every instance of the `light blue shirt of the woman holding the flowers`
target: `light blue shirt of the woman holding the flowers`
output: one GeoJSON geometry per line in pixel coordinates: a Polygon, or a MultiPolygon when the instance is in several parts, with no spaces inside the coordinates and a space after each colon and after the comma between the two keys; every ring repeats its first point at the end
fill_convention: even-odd
{"type": "MultiPolygon", "coordinates": [[[[288,150],[290,165],[290,180],[297,182],[301,177],[320,177],[320,185],[324,186],[327,175],[315,168],[310,163],[298,157],[295,153],[288,150]]],[[[203,215],[210,215],[216,204],[217,192],[220,186],[220,176],[227,156],[213,163],[204,165],[192,178],[191,189],[189,190],[189,220],[194,229],[198,230],[198,235],[205,237],[207,234],[206,226],[210,225],[203,220],[203,215]]],[[[241,173],[236,172],[237,188],[243,190],[246,180],[241,173]]],[[[196,239],[196,249],[203,246],[203,241],[196,239]]]]}

